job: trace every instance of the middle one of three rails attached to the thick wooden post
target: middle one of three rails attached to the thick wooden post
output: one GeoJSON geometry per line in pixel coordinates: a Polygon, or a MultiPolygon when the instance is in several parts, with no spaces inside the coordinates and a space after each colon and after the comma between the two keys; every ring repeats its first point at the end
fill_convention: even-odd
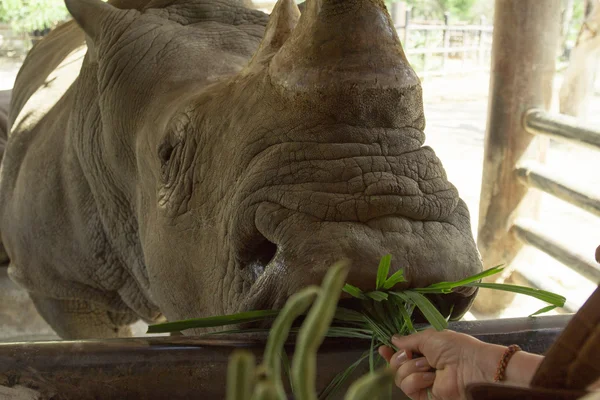
{"type": "Polygon", "coordinates": [[[517,168],[516,172],[523,184],[543,190],[600,217],[600,193],[590,191],[588,187],[576,187],[566,179],[553,176],[550,170],[537,163],[517,168]]]}

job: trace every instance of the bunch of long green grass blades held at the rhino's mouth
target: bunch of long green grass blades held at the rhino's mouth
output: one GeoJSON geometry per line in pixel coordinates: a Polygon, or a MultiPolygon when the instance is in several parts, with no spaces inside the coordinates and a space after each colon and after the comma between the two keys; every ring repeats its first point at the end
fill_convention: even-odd
{"type": "MultiPolygon", "coordinates": [[[[369,339],[371,341],[371,346],[370,349],[367,352],[365,352],[365,354],[359,360],[357,360],[354,364],[349,366],[346,370],[342,371],[333,379],[333,381],[328,385],[328,387],[318,396],[319,399],[327,399],[332,397],[342,386],[342,384],[348,379],[352,372],[367,359],[369,360],[370,370],[373,372],[376,368],[376,364],[378,362],[381,362],[381,360],[375,359],[377,347],[379,347],[380,345],[386,345],[396,349],[395,346],[391,343],[392,335],[408,335],[416,332],[418,329],[416,329],[415,325],[413,324],[413,312],[415,309],[420,310],[421,314],[423,314],[425,319],[427,319],[428,323],[433,328],[437,330],[446,329],[448,326],[447,319],[442,316],[442,314],[435,308],[435,306],[429,301],[429,299],[425,295],[449,294],[460,287],[478,287],[484,289],[503,290],[519,294],[525,294],[531,297],[535,297],[549,304],[548,306],[545,306],[539,311],[533,313],[532,316],[548,312],[557,307],[562,307],[565,303],[565,298],[563,296],[559,296],[557,294],[550,293],[544,290],[532,289],[517,285],[480,282],[483,278],[502,272],[503,268],[500,266],[490,268],[486,271],[483,271],[482,273],[455,282],[439,282],[430,285],[426,288],[392,290],[395,285],[404,282],[405,279],[402,270],[398,270],[390,276],[390,266],[391,256],[386,255],[381,259],[379,263],[379,267],[377,270],[377,280],[375,285],[376,290],[374,291],[364,292],[355,286],[349,284],[343,285],[343,282],[341,283],[341,285],[339,285],[339,288],[341,288],[344,292],[350,294],[352,297],[359,300],[359,307],[357,307],[357,310],[350,310],[343,307],[336,308],[335,305],[338,302],[341,290],[339,288],[334,289],[335,285],[326,285],[330,274],[336,272],[340,267],[332,267],[331,271],[329,271],[327,276],[325,277],[323,281],[324,287],[323,289],[321,289],[321,294],[318,298],[321,299],[321,302],[323,302],[325,301],[322,300],[322,297],[324,296],[323,298],[327,298],[330,303],[333,302],[334,306],[331,309],[333,310],[332,315],[328,317],[323,316],[322,313],[311,314],[311,311],[306,316],[306,321],[303,327],[311,321],[313,325],[316,324],[316,322],[313,321],[316,317],[313,316],[313,320],[311,320],[311,315],[319,315],[319,321],[321,321],[321,324],[319,326],[321,330],[318,333],[315,333],[313,326],[313,328],[311,328],[313,329],[311,335],[313,335],[314,337],[344,337],[369,339]],[[324,289],[327,289],[327,291],[323,294],[324,289]]],[[[340,276],[339,272],[337,276],[340,276]]],[[[343,276],[345,277],[345,274],[343,274],[343,276]]],[[[217,326],[226,326],[232,324],[241,324],[245,322],[255,322],[266,319],[273,319],[277,317],[271,330],[235,329],[224,330],[210,334],[217,335],[227,333],[232,334],[250,332],[269,332],[269,343],[271,343],[273,341],[273,338],[276,337],[276,342],[278,343],[277,346],[283,346],[283,341],[289,333],[298,333],[298,343],[302,345],[302,348],[305,348],[307,346],[307,343],[301,343],[301,338],[304,337],[305,341],[309,339],[306,339],[306,335],[303,336],[302,329],[304,328],[292,328],[291,326],[293,321],[300,315],[303,315],[306,309],[309,307],[310,302],[306,300],[308,298],[306,296],[314,297],[318,292],[319,288],[316,287],[309,287],[303,289],[298,293],[298,295],[294,295],[290,298],[290,300],[288,301],[288,303],[286,303],[286,306],[281,312],[278,310],[258,310],[233,315],[168,322],[164,324],[151,325],[148,328],[148,333],[174,332],[190,328],[209,328],[217,326]],[[312,295],[309,295],[309,293],[312,293],[312,295]],[[303,303],[304,305],[302,307],[297,305],[297,302],[299,301],[297,299],[297,296],[300,296],[300,294],[305,296],[305,303],[303,303]],[[296,305],[294,306],[294,304],[296,305]],[[290,307],[292,308],[291,311],[290,307]]],[[[421,329],[425,328],[427,327],[422,327],[421,329]]],[[[316,345],[316,347],[314,343],[311,347],[311,351],[314,350],[315,354],[318,345],[320,345],[321,341],[322,339],[317,340],[316,342],[318,342],[318,344],[316,345]]],[[[273,351],[274,350],[272,350],[272,347],[270,347],[270,345],[267,344],[267,352],[265,353],[265,358],[272,360],[274,354],[273,351]],[[270,348],[271,350],[269,350],[270,348]]],[[[284,362],[287,361],[287,358],[285,357],[285,352],[279,351],[277,354],[280,354],[281,357],[283,357],[284,362]]],[[[240,361],[240,363],[243,362],[240,361]]],[[[271,363],[272,362],[273,361],[271,361],[271,363]]],[[[296,362],[296,357],[294,359],[294,362],[296,362]]],[[[280,366],[279,361],[277,362],[277,365],[280,366]]],[[[294,371],[293,365],[291,368],[292,376],[294,371]]],[[[302,368],[305,367],[306,366],[303,366],[302,368]]],[[[288,368],[286,368],[285,370],[287,371],[288,368]]],[[[275,375],[279,375],[280,368],[277,367],[274,371],[275,375]]],[[[290,375],[289,371],[288,375],[290,375]]],[[[381,378],[382,375],[378,376],[381,378]]],[[[292,385],[292,387],[294,387],[295,389],[294,394],[296,398],[301,400],[313,398],[306,393],[305,395],[299,395],[297,393],[297,390],[300,390],[298,385],[299,383],[297,382],[294,385],[292,385]]],[[[283,398],[281,397],[282,386],[280,384],[275,384],[274,388],[276,389],[275,393],[277,396],[274,398],[283,398]]],[[[310,392],[310,390],[308,392],[310,392]]]]}

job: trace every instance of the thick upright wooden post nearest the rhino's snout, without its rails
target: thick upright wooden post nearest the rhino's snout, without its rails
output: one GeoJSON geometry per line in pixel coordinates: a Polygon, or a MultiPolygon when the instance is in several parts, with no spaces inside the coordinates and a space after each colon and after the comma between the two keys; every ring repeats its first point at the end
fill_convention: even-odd
{"type": "MultiPolygon", "coordinates": [[[[521,216],[535,215],[516,167],[526,151],[536,150],[528,149],[533,135],[524,129],[525,112],[532,107],[547,110],[552,99],[560,5],[561,0],[496,1],[477,238],[486,268],[510,265],[521,249],[509,231],[517,208],[521,216]]],[[[474,311],[496,313],[511,300],[511,295],[482,290],[474,311]]]]}

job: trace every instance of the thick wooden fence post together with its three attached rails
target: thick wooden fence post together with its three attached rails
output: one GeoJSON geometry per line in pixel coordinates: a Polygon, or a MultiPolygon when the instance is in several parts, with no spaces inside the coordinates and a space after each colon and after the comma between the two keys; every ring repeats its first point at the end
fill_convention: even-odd
{"type": "MultiPolygon", "coordinates": [[[[530,245],[598,283],[600,266],[591,252],[589,256],[579,254],[551,237],[535,221],[538,199],[526,195],[529,188],[536,188],[600,217],[600,192],[556,177],[540,163],[523,165],[521,161],[536,148],[531,146],[536,136],[600,150],[600,131],[547,111],[558,51],[560,5],[560,0],[496,2],[478,246],[484,263],[497,265],[510,264],[524,244],[530,245]]],[[[541,161],[547,140],[538,140],[537,145],[536,156],[541,161]]],[[[525,278],[533,286],[553,290],[533,274],[525,278]]],[[[475,308],[494,313],[509,300],[493,296],[480,295],[475,308]]],[[[576,311],[572,305],[567,308],[576,311]]]]}

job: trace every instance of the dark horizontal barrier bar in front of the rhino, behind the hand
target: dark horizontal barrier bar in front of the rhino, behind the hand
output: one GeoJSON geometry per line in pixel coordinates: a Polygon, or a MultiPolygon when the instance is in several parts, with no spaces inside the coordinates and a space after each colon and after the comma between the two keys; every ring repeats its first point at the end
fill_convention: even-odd
{"type": "MultiPolygon", "coordinates": [[[[502,345],[544,353],[570,315],[451,322],[449,328],[502,345]]],[[[34,388],[46,400],[224,399],[227,362],[237,348],[260,362],[265,336],[222,339],[153,337],[0,344],[0,385],[34,388]]],[[[292,354],[293,342],[287,348],[292,354]]],[[[317,387],[356,361],[370,341],[326,340],[317,355],[317,387]]],[[[351,380],[368,372],[368,362],[351,380]]],[[[345,389],[343,389],[345,390],[345,389]]],[[[402,398],[399,392],[393,398],[402,398]],[[399,395],[399,396],[397,396],[399,395]]]]}

